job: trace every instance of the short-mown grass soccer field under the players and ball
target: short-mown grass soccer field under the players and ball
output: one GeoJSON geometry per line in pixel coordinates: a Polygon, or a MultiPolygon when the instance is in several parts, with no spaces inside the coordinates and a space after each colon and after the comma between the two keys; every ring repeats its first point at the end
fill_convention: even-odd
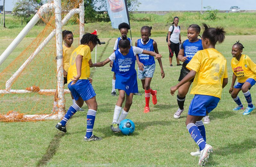
{"type": "MultiPolygon", "coordinates": [[[[138,38],[133,37],[133,44],[138,38]]],[[[232,111],[236,104],[228,93],[232,80],[230,66],[232,45],[240,40],[245,47],[243,54],[247,54],[256,62],[255,38],[256,35],[226,36],[223,44],[216,45],[216,49],[227,59],[229,83],[223,89],[222,98],[217,108],[209,114],[210,123],[205,125],[207,143],[213,146],[213,153],[210,155],[207,166],[256,166],[256,111],[247,116],[243,116],[241,111],[232,111]]],[[[12,40],[8,37],[0,37],[0,39],[0,54],[2,54],[12,40]]],[[[113,134],[110,129],[118,98],[118,96],[111,96],[113,76],[111,68],[109,65],[91,68],[92,85],[98,102],[93,133],[102,137],[103,140],[95,142],[83,140],[86,132],[86,105],[82,107],[85,112],[77,112],[69,120],[65,134],[55,130],[55,125],[58,122],[56,120],[1,122],[0,166],[198,166],[199,157],[190,155],[190,152],[196,151],[198,146],[192,140],[185,126],[187,110],[193,95],[186,96],[185,111],[181,118],[173,118],[178,105],[176,96],[170,95],[170,87],[178,83],[181,66],[176,66],[175,60],[173,60],[174,67],[169,66],[166,37],[153,39],[158,43],[159,53],[163,56],[165,78],[161,79],[160,67],[156,62],[156,71],[151,87],[158,91],[158,103],[153,105],[150,100],[150,113],[143,113],[144,95],[133,96],[133,104],[127,116],[136,126],[132,135],[113,134]]],[[[182,41],[186,39],[186,36],[182,37],[182,41]]],[[[97,48],[98,62],[110,56],[116,38],[100,38],[100,40],[105,41],[106,44],[97,48]]],[[[31,42],[31,38],[25,38],[11,57],[8,57],[6,63],[0,66],[0,71],[29,42],[31,42]]],[[[77,46],[77,43],[73,45],[77,46]]],[[[93,62],[95,61],[94,55],[95,50],[92,52],[93,62]]],[[[20,82],[26,85],[26,80],[33,81],[34,78],[21,78],[20,82]]],[[[139,92],[144,94],[139,79],[138,86],[139,92]]],[[[66,85],[65,88],[67,88],[66,85]]],[[[256,104],[255,87],[252,87],[250,92],[252,102],[256,104]]],[[[6,96],[11,100],[5,100],[2,97],[0,113],[3,114],[8,109],[15,107],[16,104],[21,104],[26,100],[25,96],[22,94],[6,96]]],[[[239,96],[246,106],[247,103],[242,92],[239,93],[239,96]]],[[[52,106],[53,96],[38,95],[39,97],[41,105],[52,106]]],[[[66,94],[65,99],[67,110],[72,104],[70,94],[66,94]]],[[[33,101],[28,103],[33,103],[33,101]]]]}

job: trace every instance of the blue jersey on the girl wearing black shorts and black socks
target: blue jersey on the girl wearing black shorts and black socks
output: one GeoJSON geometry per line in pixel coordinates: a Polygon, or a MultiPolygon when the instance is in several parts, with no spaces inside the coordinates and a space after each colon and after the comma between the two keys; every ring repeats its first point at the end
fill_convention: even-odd
{"type": "Polygon", "coordinates": [[[184,49],[184,56],[187,56],[187,60],[184,63],[188,64],[197,51],[203,50],[202,40],[199,39],[197,42],[189,42],[187,39],[182,43],[181,49],[184,49]]]}

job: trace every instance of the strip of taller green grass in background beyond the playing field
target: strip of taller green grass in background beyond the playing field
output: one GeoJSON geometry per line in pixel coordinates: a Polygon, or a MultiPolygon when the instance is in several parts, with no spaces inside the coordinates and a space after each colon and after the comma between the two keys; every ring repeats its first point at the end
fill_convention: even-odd
{"type": "MultiPolygon", "coordinates": [[[[152,26],[152,37],[166,36],[173,18],[180,18],[181,34],[187,34],[187,27],[191,24],[202,23],[209,24],[211,27],[223,26],[227,35],[255,35],[256,34],[256,14],[255,13],[218,13],[216,20],[206,20],[207,13],[199,12],[171,12],[165,15],[157,14],[132,14],[131,27],[132,36],[140,36],[142,26],[152,26]]],[[[0,27],[0,36],[15,37],[21,31],[25,24],[21,26],[21,20],[14,18],[11,14],[6,15],[6,27],[0,27]]],[[[36,37],[44,26],[37,25],[31,29],[27,37],[36,37]]],[[[78,31],[77,25],[67,24],[64,29],[78,31]]],[[[115,38],[119,32],[111,27],[110,22],[97,22],[85,24],[85,32],[98,30],[101,38],[115,38]]]]}

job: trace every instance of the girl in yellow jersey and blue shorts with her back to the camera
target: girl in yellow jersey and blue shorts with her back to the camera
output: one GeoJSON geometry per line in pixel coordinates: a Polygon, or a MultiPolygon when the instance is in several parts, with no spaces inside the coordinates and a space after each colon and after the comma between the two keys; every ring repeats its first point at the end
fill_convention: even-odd
{"type": "Polygon", "coordinates": [[[225,39],[224,28],[209,28],[206,24],[203,26],[203,50],[199,50],[186,66],[191,71],[176,86],[171,87],[171,94],[174,95],[179,87],[194,78],[190,93],[195,96],[189,106],[186,126],[200,148],[199,165],[205,165],[213,150],[211,145],[206,144],[205,128],[201,120],[206,113],[216,108],[228,77],[226,58],[215,49],[216,43],[222,43],[225,39]]]}

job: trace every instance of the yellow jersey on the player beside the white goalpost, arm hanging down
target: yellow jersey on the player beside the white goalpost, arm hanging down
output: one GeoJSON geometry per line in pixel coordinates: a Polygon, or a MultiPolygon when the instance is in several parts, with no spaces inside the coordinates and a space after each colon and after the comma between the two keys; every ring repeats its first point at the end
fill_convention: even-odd
{"type": "Polygon", "coordinates": [[[70,62],[69,62],[69,68],[68,68],[68,84],[72,81],[71,79],[73,76],[77,76],[77,69],[76,69],[76,57],[77,55],[81,55],[83,57],[82,59],[82,66],[81,66],[81,77],[80,80],[87,80],[90,77],[90,66],[89,66],[89,60],[91,59],[91,50],[90,47],[87,45],[79,45],[76,49],[73,50],[70,62]]]}

